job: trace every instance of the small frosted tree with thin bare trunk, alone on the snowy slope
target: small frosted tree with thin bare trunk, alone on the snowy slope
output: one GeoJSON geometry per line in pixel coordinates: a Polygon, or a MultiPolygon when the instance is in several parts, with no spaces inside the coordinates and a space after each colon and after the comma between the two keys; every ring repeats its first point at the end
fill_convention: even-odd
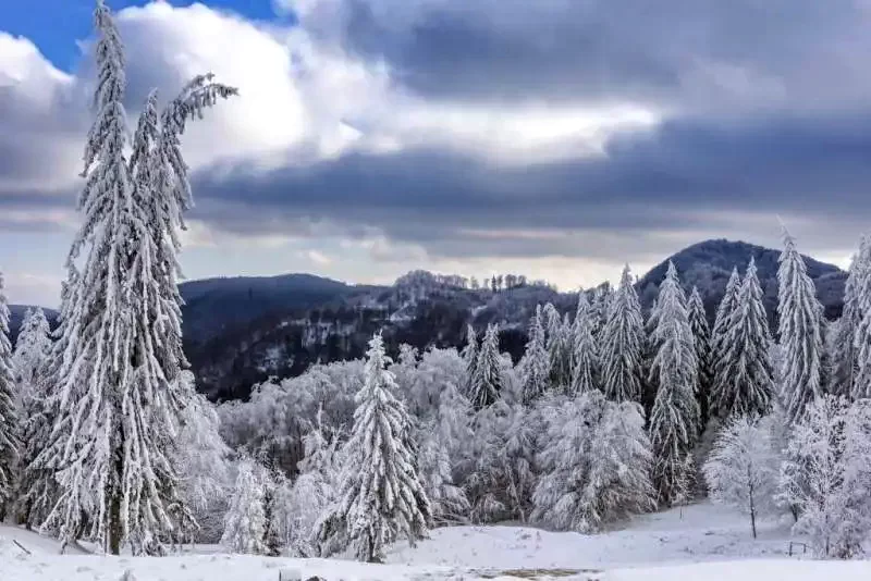
{"type": "Polygon", "coordinates": [[[756,520],[774,508],[780,477],[780,455],[768,418],[736,416],[720,432],[702,467],[714,503],[734,506],[756,520]]]}

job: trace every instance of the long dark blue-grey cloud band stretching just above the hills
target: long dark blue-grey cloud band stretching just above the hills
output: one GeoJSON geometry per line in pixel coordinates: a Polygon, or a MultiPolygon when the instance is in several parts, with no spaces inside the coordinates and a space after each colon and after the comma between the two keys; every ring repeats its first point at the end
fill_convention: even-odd
{"type": "Polygon", "coordinates": [[[450,151],[351,154],[257,177],[199,176],[196,190],[203,217],[241,233],[304,223],[317,234],[328,223],[377,227],[443,256],[590,256],[585,240],[745,234],[753,217],[775,233],[775,214],[822,219],[814,235],[843,242],[856,233],[838,224],[871,218],[869,159],[868,114],[684,119],[616,137],[586,160],[504,168],[450,151]]]}

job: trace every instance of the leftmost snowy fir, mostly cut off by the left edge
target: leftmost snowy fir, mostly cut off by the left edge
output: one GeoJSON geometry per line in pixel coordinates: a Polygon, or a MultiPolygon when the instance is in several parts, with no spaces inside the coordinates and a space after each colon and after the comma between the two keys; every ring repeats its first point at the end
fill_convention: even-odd
{"type": "Polygon", "coordinates": [[[12,500],[13,469],[19,457],[19,418],[15,412],[15,376],[9,342],[9,306],[0,272],[0,521],[12,500]]]}

